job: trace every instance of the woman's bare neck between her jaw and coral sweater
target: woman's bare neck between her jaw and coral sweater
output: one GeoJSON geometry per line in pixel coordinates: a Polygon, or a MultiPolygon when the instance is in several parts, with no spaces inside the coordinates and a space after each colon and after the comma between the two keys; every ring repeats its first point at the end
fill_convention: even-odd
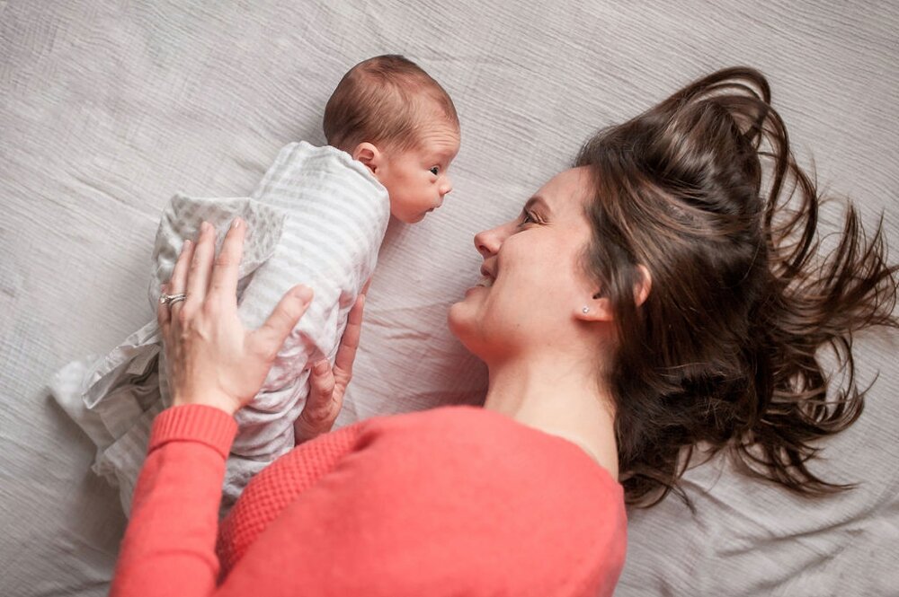
{"type": "Polygon", "coordinates": [[[611,394],[584,365],[561,357],[488,365],[484,408],[575,443],[618,478],[611,394]]]}

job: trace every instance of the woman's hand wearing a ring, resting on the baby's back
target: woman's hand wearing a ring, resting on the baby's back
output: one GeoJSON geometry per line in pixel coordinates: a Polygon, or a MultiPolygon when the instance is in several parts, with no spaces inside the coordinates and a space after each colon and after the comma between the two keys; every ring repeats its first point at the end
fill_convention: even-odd
{"type": "Polygon", "coordinates": [[[206,404],[236,413],[262,387],[284,340],[312,301],[309,288],[296,286],[261,328],[244,328],[236,294],[245,228],[240,218],[232,222],[216,258],[215,229],[204,222],[197,243],[184,242],[164,287],[166,294],[187,294],[183,301],[160,304],[156,312],[175,406],[206,404]]]}

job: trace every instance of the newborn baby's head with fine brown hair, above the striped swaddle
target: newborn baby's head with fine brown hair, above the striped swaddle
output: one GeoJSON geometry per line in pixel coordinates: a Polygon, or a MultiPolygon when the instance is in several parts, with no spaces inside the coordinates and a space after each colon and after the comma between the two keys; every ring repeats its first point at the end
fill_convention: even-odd
{"type": "Polygon", "coordinates": [[[369,58],[343,75],[325,107],[325,137],[369,168],[402,222],[421,221],[452,190],[456,107],[440,83],[405,57],[369,58]]]}

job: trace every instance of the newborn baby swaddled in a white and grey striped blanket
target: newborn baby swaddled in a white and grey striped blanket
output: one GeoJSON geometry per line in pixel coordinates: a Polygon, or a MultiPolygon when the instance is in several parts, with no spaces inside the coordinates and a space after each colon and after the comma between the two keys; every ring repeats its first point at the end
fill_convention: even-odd
{"type": "MultiPolygon", "coordinates": [[[[226,508],[256,472],[293,447],[310,365],[321,358],[334,362],[390,215],[420,222],[452,189],[448,170],[459,146],[455,107],[441,85],[405,57],[373,57],[353,66],[327,102],[324,128],[328,145],[286,145],[249,198],[176,195],[156,236],[153,301],[183,241],[196,236],[200,223],[213,224],[221,236],[238,215],[248,231],[238,285],[245,325],[262,325],[294,285],[315,292],[263,390],[236,415],[226,508]]],[[[85,410],[93,415],[93,429],[83,426],[98,443],[94,470],[121,486],[126,512],[150,423],[170,404],[160,352],[159,330],[151,322],[89,367],[77,391],[71,387],[74,367],[51,384],[64,408],[75,408],[77,394],[81,417],[85,410]]]]}

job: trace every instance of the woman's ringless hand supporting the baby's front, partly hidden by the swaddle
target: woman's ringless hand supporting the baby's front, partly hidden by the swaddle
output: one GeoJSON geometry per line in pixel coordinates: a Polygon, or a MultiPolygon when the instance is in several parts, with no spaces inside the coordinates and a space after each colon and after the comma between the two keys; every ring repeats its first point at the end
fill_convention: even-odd
{"type": "Polygon", "coordinates": [[[337,347],[334,357],[334,368],[327,359],[322,359],[312,367],[309,373],[309,397],[306,406],[293,424],[295,442],[306,442],[316,435],[331,431],[337,415],[343,408],[343,394],[352,378],[352,362],[356,358],[359,347],[359,336],[362,329],[362,311],[365,308],[365,292],[369,285],[362,289],[362,294],[352,305],[350,315],[337,347]]]}

